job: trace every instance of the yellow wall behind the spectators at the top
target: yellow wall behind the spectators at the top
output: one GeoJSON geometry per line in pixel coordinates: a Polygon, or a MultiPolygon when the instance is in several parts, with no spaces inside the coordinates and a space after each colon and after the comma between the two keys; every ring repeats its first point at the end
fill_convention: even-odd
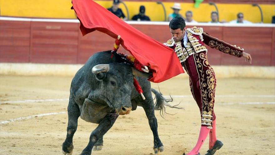
{"type": "MultiPolygon", "coordinates": [[[[105,8],[112,5],[112,1],[96,1],[105,8]]],[[[146,14],[152,21],[163,21],[164,13],[161,5],[156,2],[125,2],[129,9],[130,18],[138,14],[139,6],[144,5],[146,14]]],[[[39,17],[39,18],[75,18],[70,0],[0,0],[1,16],[16,17],[39,17]]],[[[167,15],[172,13],[173,3],[166,2],[164,6],[167,15]]],[[[193,3],[181,3],[183,10],[180,13],[185,16],[187,10],[193,11],[193,17],[198,22],[210,21],[210,13],[214,11],[213,6],[202,3],[199,8],[194,8],[193,3]]],[[[260,5],[264,15],[264,23],[271,23],[271,17],[275,15],[275,4],[260,5]]],[[[231,21],[236,19],[239,12],[244,13],[244,19],[253,23],[261,20],[257,7],[250,4],[217,4],[220,13],[220,20],[231,21]]],[[[125,15],[126,9],[120,4],[125,15]]]]}

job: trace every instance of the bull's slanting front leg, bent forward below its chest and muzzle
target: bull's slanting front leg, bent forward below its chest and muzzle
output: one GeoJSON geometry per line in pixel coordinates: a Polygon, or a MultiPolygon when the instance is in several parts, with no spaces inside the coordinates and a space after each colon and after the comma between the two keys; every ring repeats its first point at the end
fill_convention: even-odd
{"type": "Polygon", "coordinates": [[[107,114],[98,124],[98,127],[91,133],[89,143],[80,155],[91,155],[94,145],[103,138],[103,135],[113,126],[118,118],[117,113],[107,114]]]}

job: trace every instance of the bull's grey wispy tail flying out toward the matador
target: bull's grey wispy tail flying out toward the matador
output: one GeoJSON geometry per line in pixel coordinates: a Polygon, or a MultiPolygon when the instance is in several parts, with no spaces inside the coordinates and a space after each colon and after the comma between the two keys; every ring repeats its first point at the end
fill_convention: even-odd
{"type": "Polygon", "coordinates": [[[178,105],[180,104],[177,104],[177,105],[170,105],[168,102],[173,102],[173,98],[170,96],[170,99],[165,99],[162,94],[160,92],[158,92],[157,90],[151,88],[151,91],[156,95],[155,96],[155,99],[156,99],[156,102],[155,102],[155,110],[160,110],[160,115],[164,118],[165,114],[168,114],[168,115],[174,115],[174,114],[169,114],[166,112],[166,107],[165,106],[168,106],[170,108],[176,108],[176,109],[184,109],[182,107],[178,107],[178,105]]]}

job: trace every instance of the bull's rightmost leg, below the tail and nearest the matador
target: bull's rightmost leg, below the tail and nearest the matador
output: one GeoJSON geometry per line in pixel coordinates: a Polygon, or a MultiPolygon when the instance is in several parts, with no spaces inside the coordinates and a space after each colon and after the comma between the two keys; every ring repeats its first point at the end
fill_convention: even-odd
{"type": "Polygon", "coordinates": [[[149,121],[150,128],[153,132],[154,136],[154,152],[158,153],[158,151],[163,152],[163,144],[160,141],[158,137],[158,121],[155,116],[155,111],[154,111],[154,101],[152,98],[152,95],[147,95],[145,96],[146,100],[143,102],[143,109],[146,113],[146,116],[149,121]]]}

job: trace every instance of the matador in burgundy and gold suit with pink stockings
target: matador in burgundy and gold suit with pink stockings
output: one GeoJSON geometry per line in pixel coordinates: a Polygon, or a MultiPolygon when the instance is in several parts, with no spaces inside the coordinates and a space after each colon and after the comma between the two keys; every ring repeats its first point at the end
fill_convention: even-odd
{"type": "MultiPolygon", "coordinates": [[[[172,39],[164,45],[174,49],[181,65],[189,75],[192,96],[201,114],[201,129],[196,146],[187,155],[200,155],[199,151],[209,133],[209,150],[213,155],[223,143],[216,138],[216,115],[214,113],[216,77],[207,60],[208,45],[211,48],[236,57],[244,57],[251,64],[251,55],[243,49],[225,43],[205,33],[202,28],[185,28],[183,18],[173,18],[169,23],[172,39]]],[[[184,153],[185,154],[185,153],[184,153]]]]}

